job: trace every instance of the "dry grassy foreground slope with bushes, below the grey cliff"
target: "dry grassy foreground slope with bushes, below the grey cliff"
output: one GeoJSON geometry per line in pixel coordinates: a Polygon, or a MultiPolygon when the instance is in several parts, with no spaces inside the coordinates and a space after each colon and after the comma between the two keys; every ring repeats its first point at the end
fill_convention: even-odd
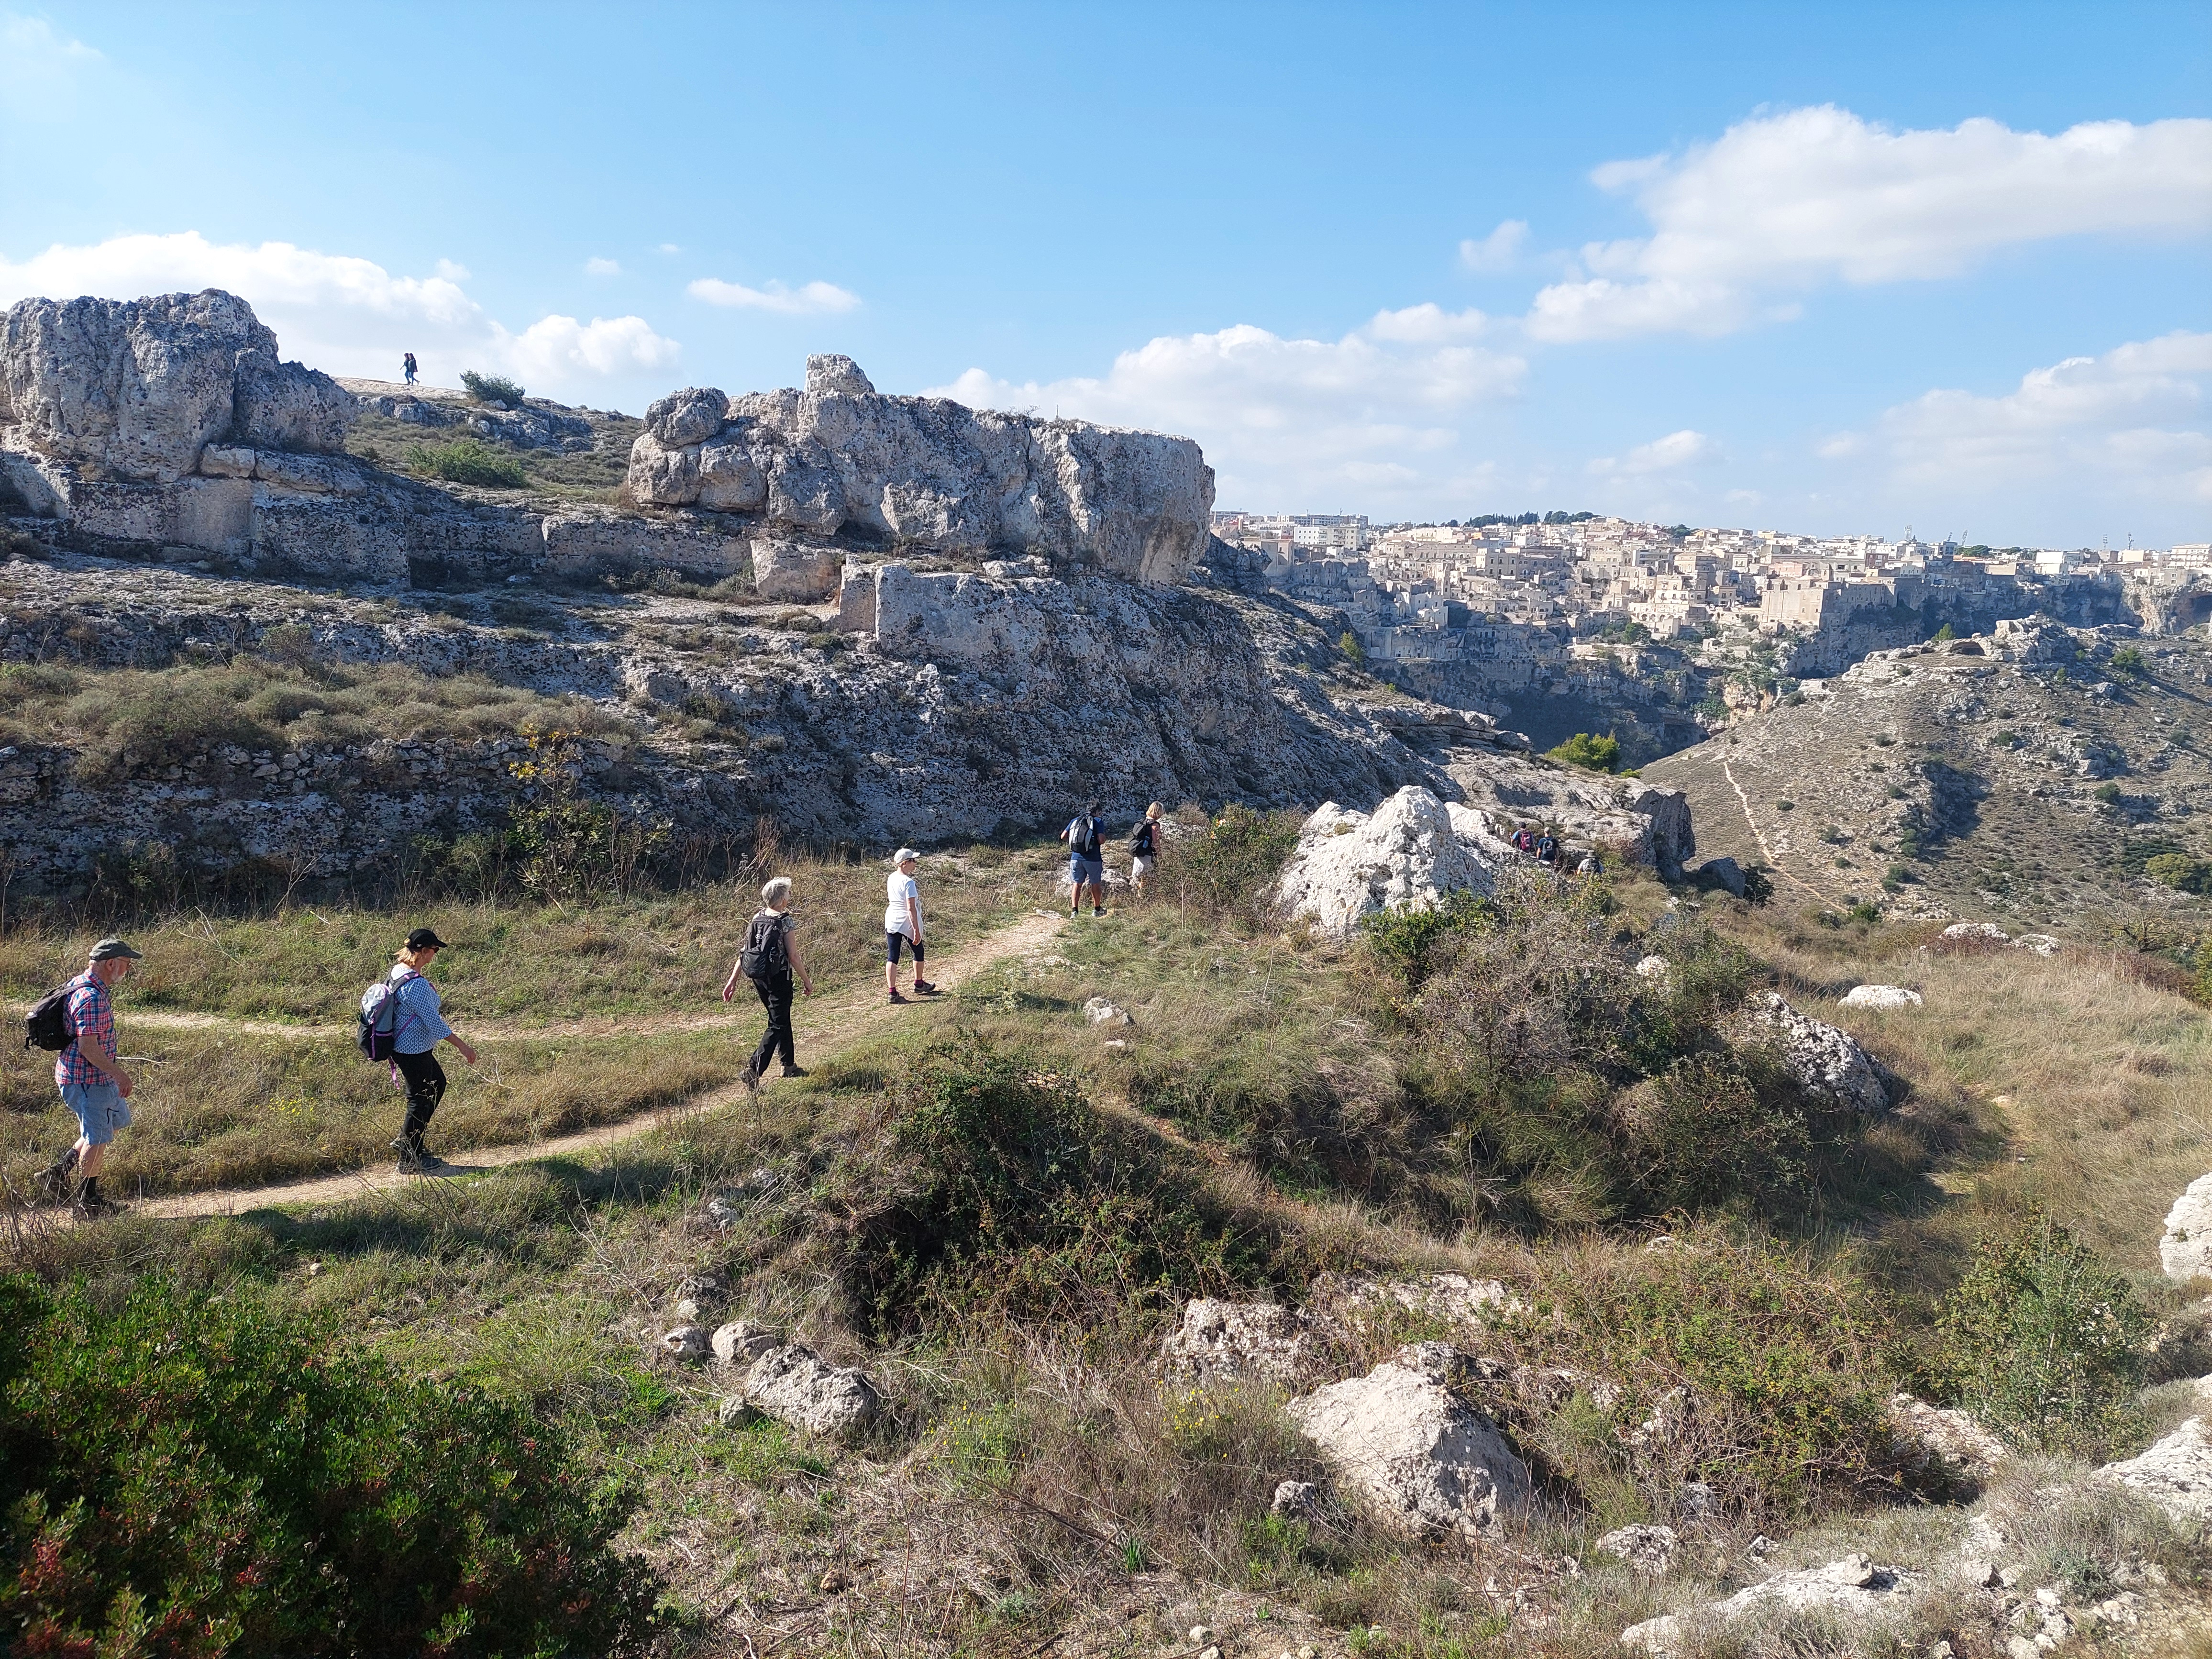
{"type": "MultiPolygon", "coordinates": [[[[2132,958],[1922,953],[1927,927],[1832,929],[1635,874],[1513,883],[1338,949],[1254,905],[1279,827],[1177,852],[1150,900],[810,1055],[814,1075],[759,1113],[301,1214],[66,1230],[18,1212],[15,1261],[102,1305],[148,1281],[268,1305],[327,1352],[520,1407],[575,1478],[630,1504],[615,1546],[650,1566],[668,1613],[624,1639],[701,1655],[1166,1655],[1192,1650],[1197,1624],[1228,1652],[1617,1652],[1668,1586],[1595,1537],[1679,1520],[1683,1480],[1714,1489],[1683,1575],[1754,1573],[1754,1537],[1792,1531],[1767,1559],[1865,1537],[1882,1559],[1933,1559],[1966,1511],[1900,1460],[1882,1402],[1898,1385],[1971,1387],[1949,1363],[1964,1327],[1938,1321],[1975,1248],[2015,1237],[2031,1206],[2119,1274],[2110,1294],[2172,1323],[2124,1398],[2020,1427],[2022,1444],[2132,1449],[2161,1409],[2135,1387],[2212,1369],[2154,1272],[2159,1217],[2208,1161],[2212,1051],[2203,1013],[2132,958]],[[1666,980],[1632,971],[1644,953],[1668,956],[1666,980]],[[1820,1006],[1863,980],[1927,1002],[1820,1006]],[[1860,1119],[1805,1099],[1734,1020],[1765,984],[1858,1031],[1907,1102],[1860,1119]],[[1097,1000],[1130,1022],[1095,1024],[1097,1000]],[[1475,1332],[1345,1294],[1429,1272],[1502,1279],[1526,1314],[1475,1332]],[[1283,1391],[1161,1376],[1159,1334],[1194,1294],[1340,1310],[1343,1374],[1429,1336],[1498,1360],[1482,1398],[1540,1502],[1464,1546],[1409,1544],[1336,1498],[1270,1513],[1276,1482],[1327,1471],[1283,1391]],[[726,1427],[728,1378],[659,1343],[686,1296],[701,1323],[768,1321],[865,1365],[887,1420],[854,1449],[726,1427]],[[1697,1429],[1632,1447],[1670,1389],[1697,1429]]],[[[942,925],[1048,905],[1048,863],[951,860],[942,925]]],[[[701,894],[469,916],[509,931],[500,967],[484,956],[465,978],[453,953],[453,993],[619,1026],[719,984],[717,905],[739,909],[701,894]],[[577,929],[615,945],[580,953],[577,929]],[[571,980],[568,962],[588,969],[571,980]]],[[[858,898],[852,911],[869,920],[858,898]]],[[[161,1006],[310,1013],[354,989],[356,956],[398,920],[170,922],[148,933],[159,960],[199,929],[197,953],[223,967],[179,975],[161,1006]],[[323,945],[341,927],[354,942],[323,945]]],[[[29,989],[62,940],[9,949],[9,984],[29,989]]],[[[858,931],[836,962],[872,969],[858,931]]],[[[135,1046],[128,1002],[124,1031],[135,1046]]],[[[639,1031],[513,1053],[544,1053],[531,1077],[546,1088],[593,1053],[615,1091],[706,1066],[717,1042],[737,1048],[639,1031]]],[[[195,1064],[212,1084],[212,1062],[195,1064]]],[[[336,1075],[312,1088],[336,1093],[336,1075]]],[[[221,1135],[148,1124],[144,1144],[186,1179],[221,1135]]],[[[2035,1478],[1991,1502],[2033,1509],[2035,1478]]],[[[2177,1582],[2197,1571],[2124,1504],[2042,1509],[2035,1571],[2146,1555],[2177,1582]]]]}

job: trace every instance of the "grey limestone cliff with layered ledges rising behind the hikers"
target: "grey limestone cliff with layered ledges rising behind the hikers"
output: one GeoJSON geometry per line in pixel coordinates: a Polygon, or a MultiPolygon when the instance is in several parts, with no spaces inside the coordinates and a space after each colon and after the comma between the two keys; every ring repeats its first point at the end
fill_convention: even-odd
{"type": "MultiPolygon", "coordinates": [[[[889,398],[847,358],[803,392],[690,387],[641,425],[341,385],[219,292],[24,301],[0,385],[0,659],[55,670],[4,684],[7,856],[33,891],[148,849],[387,869],[553,787],[524,723],[577,734],[562,770],[588,799],[723,845],[763,821],[927,845],[1084,799],[1312,807],[1416,781],[1615,807],[1509,761],[1489,717],[1354,672],[1327,617],[1217,582],[1212,476],[1181,438],[889,398]],[[633,431],[628,504],[400,476],[363,422],[584,460],[633,431]],[[387,670],[447,690],[376,690],[387,670]],[[504,714],[491,690],[469,714],[467,686],[504,714]]],[[[1650,858],[1648,814],[1588,836],[1650,858]]]]}

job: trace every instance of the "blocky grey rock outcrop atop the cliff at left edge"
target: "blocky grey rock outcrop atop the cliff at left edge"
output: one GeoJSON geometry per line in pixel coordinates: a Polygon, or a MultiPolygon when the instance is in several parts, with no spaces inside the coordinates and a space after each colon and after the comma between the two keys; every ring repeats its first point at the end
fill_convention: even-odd
{"type": "Polygon", "coordinates": [[[11,449],[106,478],[170,484],[208,442],[336,451],[354,396],[281,363],[237,294],[27,299],[0,316],[0,427],[11,449]]]}

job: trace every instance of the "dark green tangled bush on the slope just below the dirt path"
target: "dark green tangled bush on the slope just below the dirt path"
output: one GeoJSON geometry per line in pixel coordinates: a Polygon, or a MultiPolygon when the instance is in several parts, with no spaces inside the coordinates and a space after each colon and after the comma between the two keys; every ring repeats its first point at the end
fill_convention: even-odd
{"type": "Polygon", "coordinates": [[[978,1310],[1095,1321],[1267,1272],[1256,1221],[1026,1055],[936,1051],[905,1095],[902,1190],[852,1263],[880,1327],[978,1310]]]}

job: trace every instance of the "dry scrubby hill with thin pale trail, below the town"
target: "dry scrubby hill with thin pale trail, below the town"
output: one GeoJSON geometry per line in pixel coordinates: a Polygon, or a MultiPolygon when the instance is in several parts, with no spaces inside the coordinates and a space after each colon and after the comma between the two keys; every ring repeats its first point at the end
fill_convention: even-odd
{"type": "Polygon", "coordinates": [[[2188,914],[2146,865],[2212,852],[2208,686],[2197,637],[2006,622],[1805,681],[1644,776],[1798,905],[2097,931],[2188,914]]]}

